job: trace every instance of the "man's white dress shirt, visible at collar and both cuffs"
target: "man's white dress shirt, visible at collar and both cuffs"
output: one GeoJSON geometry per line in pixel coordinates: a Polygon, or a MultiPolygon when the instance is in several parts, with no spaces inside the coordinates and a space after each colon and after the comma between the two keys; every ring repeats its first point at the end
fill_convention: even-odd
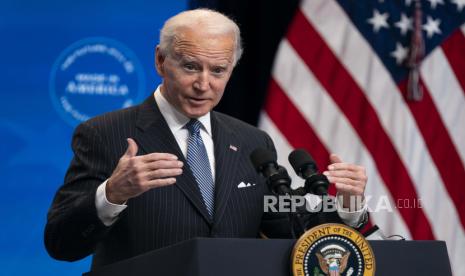
{"type": "MultiPolygon", "coordinates": [[[[154,92],[155,102],[160,109],[160,112],[165,119],[168,127],[176,139],[176,142],[179,145],[184,157],[187,157],[187,143],[189,138],[189,131],[185,128],[185,125],[189,122],[190,118],[186,117],[184,114],[180,113],[174,106],[172,106],[162,95],[160,91],[160,86],[154,92]]],[[[202,128],[200,130],[200,135],[202,136],[203,143],[207,150],[208,159],[210,161],[210,167],[212,171],[213,181],[215,180],[215,154],[213,147],[213,137],[211,132],[211,120],[210,113],[205,114],[204,116],[198,118],[202,123],[202,128]]],[[[130,137],[128,137],[130,138],[130,137]]],[[[100,220],[106,226],[112,225],[117,219],[118,215],[126,209],[126,204],[113,204],[109,202],[106,198],[106,183],[108,180],[104,181],[97,188],[97,193],[95,196],[95,206],[97,208],[97,215],[100,220]]],[[[366,212],[367,206],[364,204],[363,208],[355,212],[347,212],[340,208],[340,205],[337,205],[337,211],[344,223],[350,226],[357,226],[360,222],[362,215],[366,212]]]]}

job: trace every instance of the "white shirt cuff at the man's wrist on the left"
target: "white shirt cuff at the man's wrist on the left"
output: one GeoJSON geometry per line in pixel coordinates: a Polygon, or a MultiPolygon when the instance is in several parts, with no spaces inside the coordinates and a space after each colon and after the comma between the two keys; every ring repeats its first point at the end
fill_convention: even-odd
{"type": "Polygon", "coordinates": [[[108,201],[106,196],[105,188],[107,181],[103,182],[98,186],[95,194],[95,207],[97,208],[97,216],[105,224],[105,226],[111,226],[118,219],[118,215],[126,209],[126,204],[114,204],[108,201]]]}

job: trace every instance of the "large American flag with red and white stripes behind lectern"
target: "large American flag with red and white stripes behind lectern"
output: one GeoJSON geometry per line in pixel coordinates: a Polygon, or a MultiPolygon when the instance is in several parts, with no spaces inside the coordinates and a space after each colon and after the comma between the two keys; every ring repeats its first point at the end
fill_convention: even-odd
{"type": "Polygon", "coordinates": [[[465,0],[303,0],[259,124],[283,165],[294,148],[320,167],[333,152],[364,165],[371,223],[445,240],[454,275],[465,275],[464,22],[465,0]]]}

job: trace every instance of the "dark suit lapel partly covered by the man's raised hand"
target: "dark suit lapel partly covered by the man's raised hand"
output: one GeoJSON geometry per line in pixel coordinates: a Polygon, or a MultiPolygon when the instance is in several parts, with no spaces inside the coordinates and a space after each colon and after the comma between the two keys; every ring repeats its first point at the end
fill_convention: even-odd
{"type": "Polygon", "coordinates": [[[136,142],[144,151],[144,154],[168,152],[178,156],[179,160],[184,163],[183,173],[176,177],[175,185],[186,195],[207,222],[211,224],[212,219],[203,202],[197,182],[192,172],[188,169],[187,161],[168,124],[161,115],[153,95],[148,97],[139,107],[137,128],[136,142]]]}

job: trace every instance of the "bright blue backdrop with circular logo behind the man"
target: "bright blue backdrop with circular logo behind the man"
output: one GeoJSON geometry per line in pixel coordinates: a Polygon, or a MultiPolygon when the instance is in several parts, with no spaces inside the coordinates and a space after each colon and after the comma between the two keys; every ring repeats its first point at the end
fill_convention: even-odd
{"type": "Polygon", "coordinates": [[[156,88],[154,46],[175,1],[0,2],[1,275],[79,275],[51,259],[47,209],[72,157],[74,126],[156,88]]]}

